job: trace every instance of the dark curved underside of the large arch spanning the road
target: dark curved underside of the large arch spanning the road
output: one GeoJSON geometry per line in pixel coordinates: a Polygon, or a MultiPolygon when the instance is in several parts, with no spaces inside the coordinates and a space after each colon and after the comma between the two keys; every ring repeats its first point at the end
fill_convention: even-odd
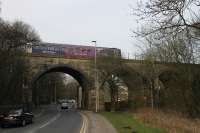
{"type": "Polygon", "coordinates": [[[43,76],[50,74],[50,73],[65,73],[70,76],[72,76],[80,85],[82,88],[82,101],[81,101],[81,108],[88,109],[88,87],[89,82],[87,77],[80,72],[79,70],[76,70],[72,67],[69,67],[67,65],[55,65],[48,67],[46,69],[41,70],[39,73],[37,73],[31,82],[31,88],[32,88],[32,101],[36,102],[35,96],[37,95],[36,89],[34,89],[36,86],[37,81],[39,81],[43,76]]]}

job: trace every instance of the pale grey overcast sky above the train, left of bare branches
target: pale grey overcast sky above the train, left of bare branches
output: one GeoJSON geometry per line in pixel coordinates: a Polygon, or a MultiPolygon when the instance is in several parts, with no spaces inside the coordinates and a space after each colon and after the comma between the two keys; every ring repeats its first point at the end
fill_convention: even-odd
{"type": "Polygon", "coordinates": [[[117,47],[134,53],[136,0],[1,0],[1,17],[33,26],[44,42],[117,47]]]}

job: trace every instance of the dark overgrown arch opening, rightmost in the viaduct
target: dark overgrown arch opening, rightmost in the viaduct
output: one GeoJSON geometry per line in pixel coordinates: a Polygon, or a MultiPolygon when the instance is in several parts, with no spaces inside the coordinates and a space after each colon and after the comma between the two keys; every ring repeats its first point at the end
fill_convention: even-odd
{"type": "Polygon", "coordinates": [[[161,108],[170,108],[180,110],[185,108],[183,82],[179,73],[175,70],[166,70],[158,76],[159,81],[163,84],[160,89],[159,106],[161,108]],[[179,107],[177,108],[177,105],[179,107]]]}

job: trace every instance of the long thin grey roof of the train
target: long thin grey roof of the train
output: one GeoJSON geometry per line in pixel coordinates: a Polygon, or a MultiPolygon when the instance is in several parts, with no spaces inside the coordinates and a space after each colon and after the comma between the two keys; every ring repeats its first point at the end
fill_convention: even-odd
{"type": "MultiPolygon", "coordinates": [[[[56,46],[56,47],[85,47],[85,48],[94,48],[94,46],[87,45],[73,45],[73,44],[60,44],[60,43],[48,43],[48,42],[40,42],[38,45],[43,46],[56,46]]],[[[118,48],[109,48],[109,47],[97,47],[97,48],[108,48],[108,49],[118,49],[118,48]]],[[[120,50],[120,49],[118,49],[120,50]]]]}

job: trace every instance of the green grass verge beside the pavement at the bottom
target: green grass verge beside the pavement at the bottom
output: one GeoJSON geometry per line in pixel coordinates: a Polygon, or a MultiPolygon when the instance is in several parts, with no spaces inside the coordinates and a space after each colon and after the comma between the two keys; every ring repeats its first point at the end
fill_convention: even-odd
{"type": "Polygon", "coordinates": [[[164,133],[158,128],[152,128],[144,125],[140,121],[134,119],[133,115],[124,112],[101,112],[119,133],[164,133]]]}

